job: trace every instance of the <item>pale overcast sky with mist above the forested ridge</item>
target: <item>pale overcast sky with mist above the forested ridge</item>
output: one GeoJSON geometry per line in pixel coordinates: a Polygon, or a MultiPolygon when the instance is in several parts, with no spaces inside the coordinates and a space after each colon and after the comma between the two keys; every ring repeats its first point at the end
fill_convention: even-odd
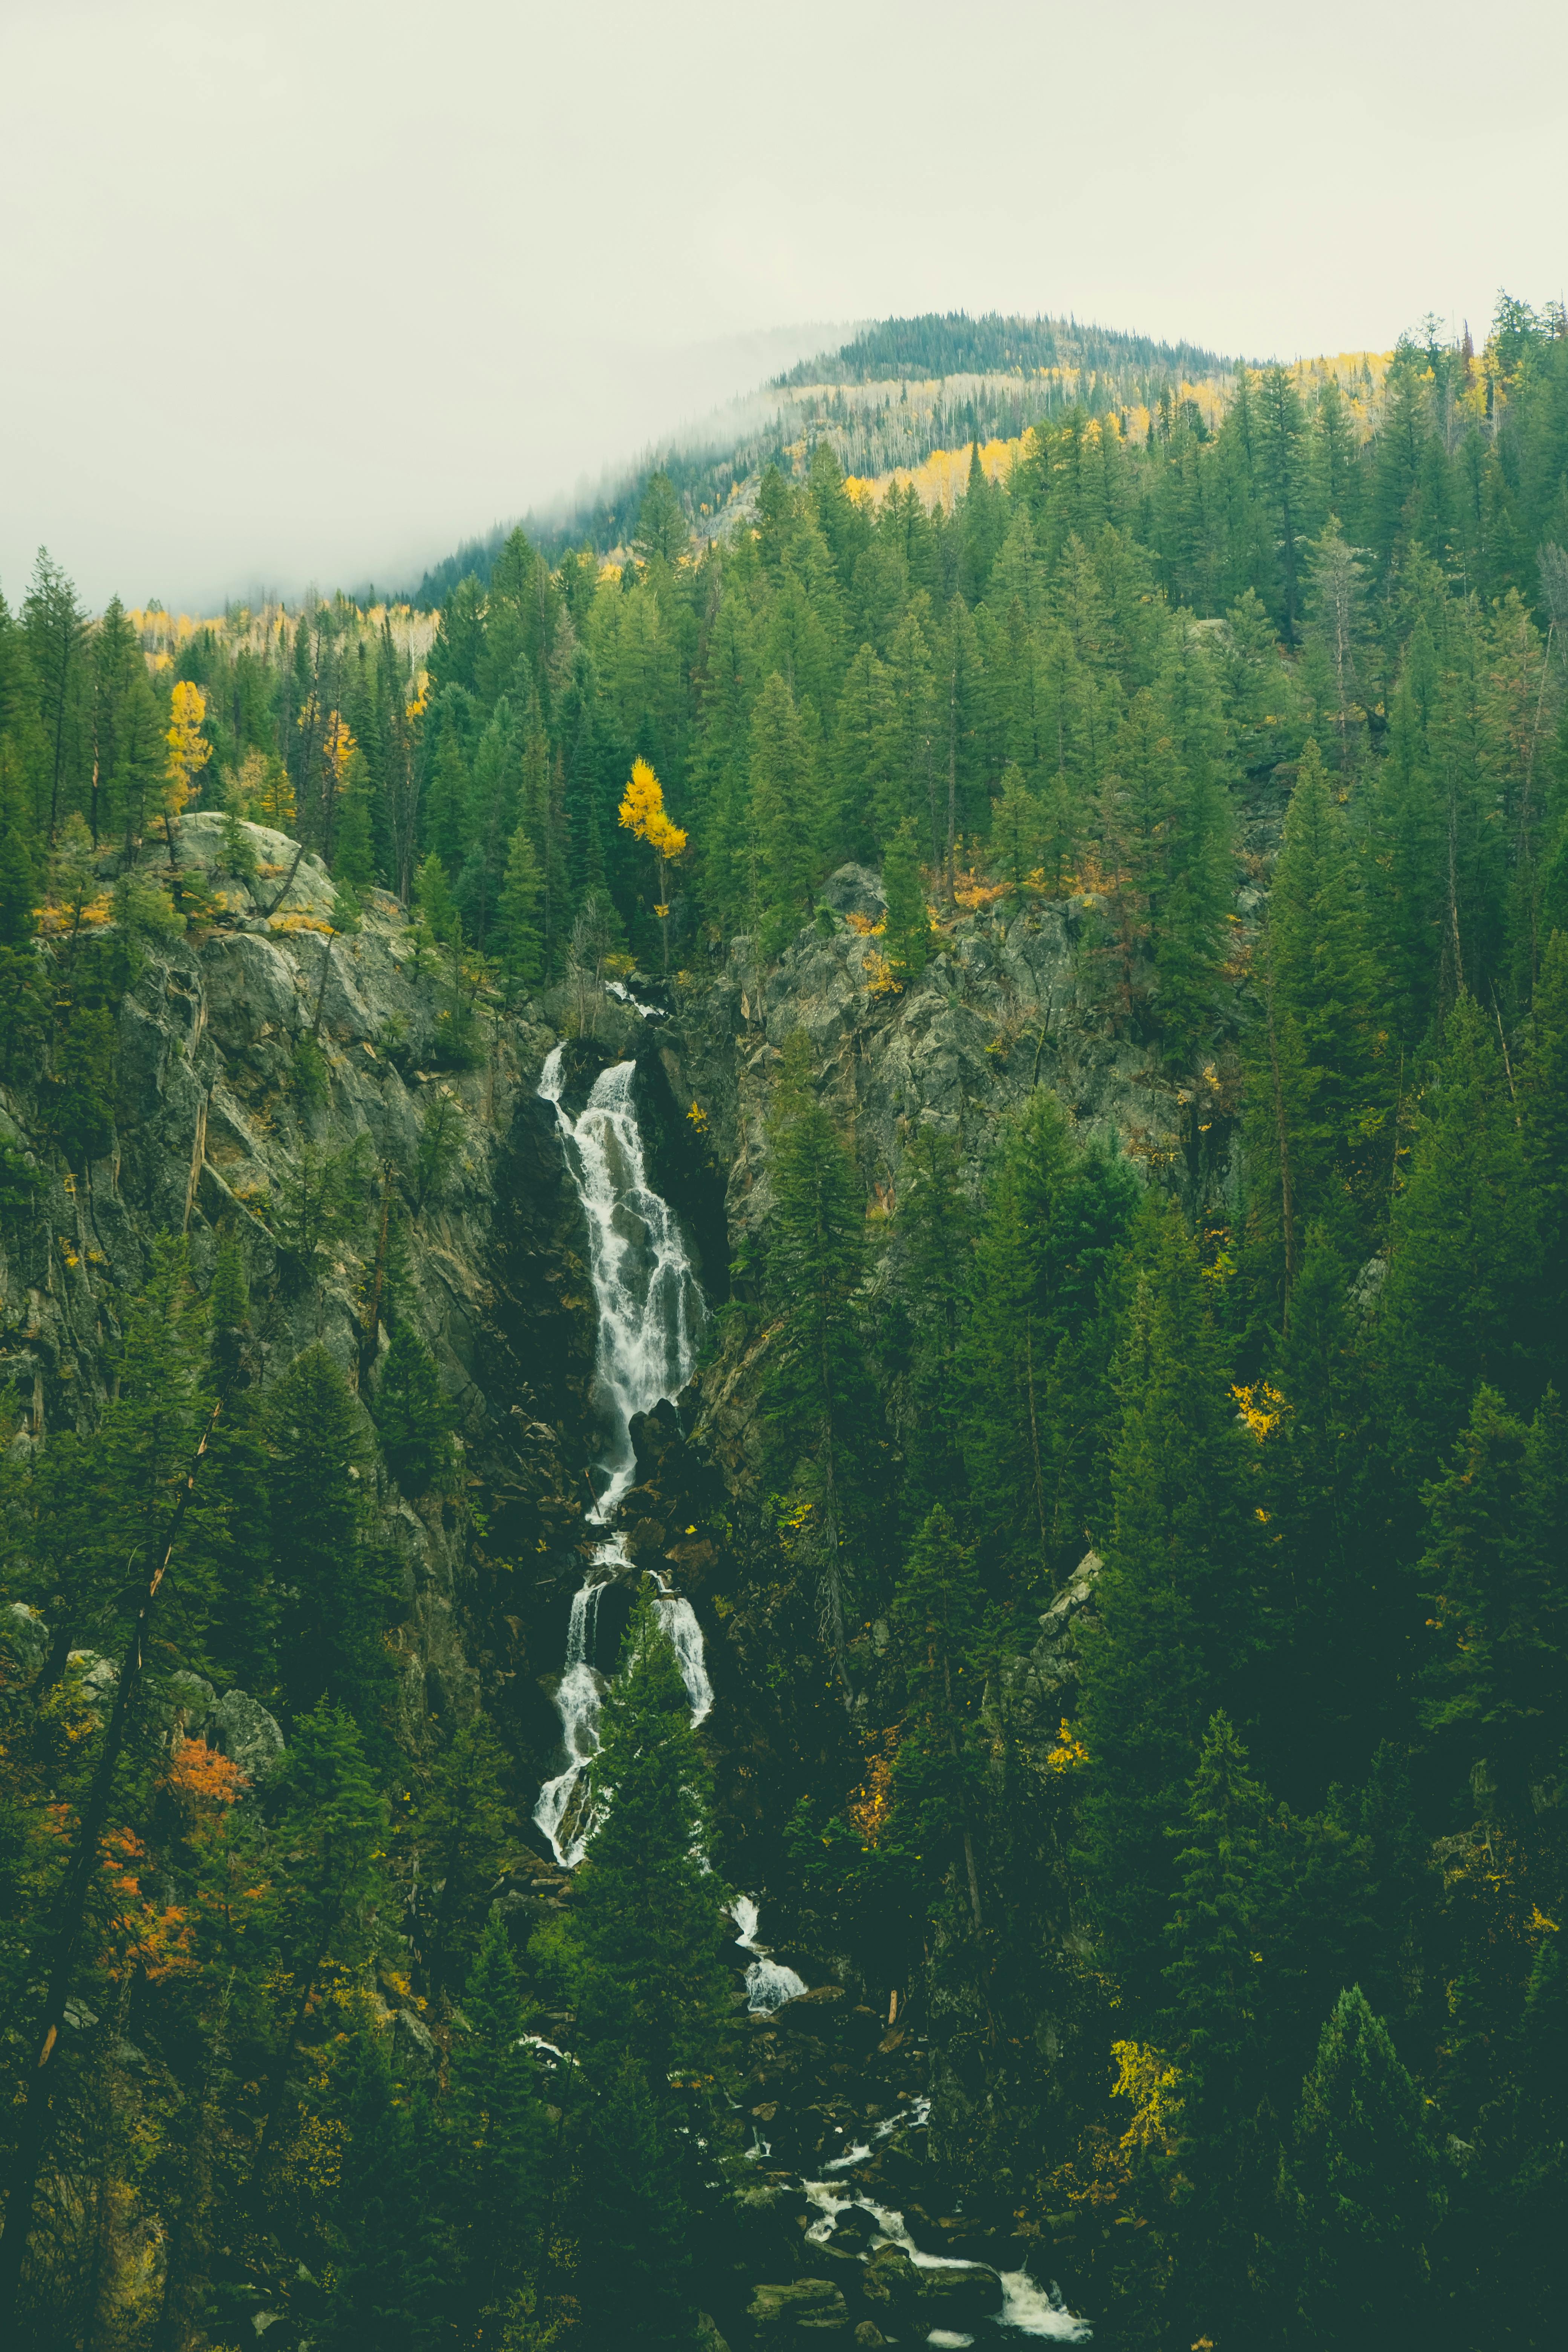
{"type": "Polygon", "coordinates": [[[0,588],[416,576],[820,327],[1563,289],[1561,0],[0,0],[0,588]]]}

